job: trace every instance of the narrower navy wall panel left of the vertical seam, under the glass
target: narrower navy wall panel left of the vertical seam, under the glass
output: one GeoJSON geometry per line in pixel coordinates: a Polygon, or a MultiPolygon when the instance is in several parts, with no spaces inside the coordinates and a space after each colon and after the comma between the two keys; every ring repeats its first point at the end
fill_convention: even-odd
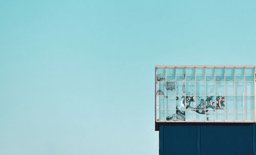
{"type": "Polygon", "coordinates": [[[197,125],[163,126],[163,154],[197,154],[197,125]]]}

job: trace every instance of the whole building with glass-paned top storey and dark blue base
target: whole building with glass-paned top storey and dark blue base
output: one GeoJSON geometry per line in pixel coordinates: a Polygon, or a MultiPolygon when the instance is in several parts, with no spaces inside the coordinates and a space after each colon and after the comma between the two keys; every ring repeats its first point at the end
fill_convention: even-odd
{"type": "Polygon", "coordinates": [[[159,154],[254,154],[254,65],[156,65],[159,154]]]}

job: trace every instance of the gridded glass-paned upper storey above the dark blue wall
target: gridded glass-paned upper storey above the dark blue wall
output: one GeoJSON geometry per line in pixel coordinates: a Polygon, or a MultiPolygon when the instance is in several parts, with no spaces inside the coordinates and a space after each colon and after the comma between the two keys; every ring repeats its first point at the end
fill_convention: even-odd
{"type": "Polygon", "coordinates": [[[254,122],[254,66],[156,67],[156,122],[254,122]]]}

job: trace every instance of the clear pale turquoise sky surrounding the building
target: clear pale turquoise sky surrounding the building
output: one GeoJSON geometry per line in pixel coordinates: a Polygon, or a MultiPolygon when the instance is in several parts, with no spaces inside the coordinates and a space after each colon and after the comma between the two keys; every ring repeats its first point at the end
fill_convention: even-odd
{"type": "Polygon", "coordinates": [[[0,154],[158,154],[155,65],[255,65],[255,8],[0,1],[0,154]]]}

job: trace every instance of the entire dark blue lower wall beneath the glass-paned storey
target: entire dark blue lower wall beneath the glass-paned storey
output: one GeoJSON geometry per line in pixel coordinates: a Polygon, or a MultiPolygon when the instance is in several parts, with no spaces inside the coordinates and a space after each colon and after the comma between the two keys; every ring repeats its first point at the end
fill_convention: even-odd
{"type": "Polygon", "coordinates": [[[159,154],[256,155],[255,123],[165,123],[159,130],[159,154]]]}

